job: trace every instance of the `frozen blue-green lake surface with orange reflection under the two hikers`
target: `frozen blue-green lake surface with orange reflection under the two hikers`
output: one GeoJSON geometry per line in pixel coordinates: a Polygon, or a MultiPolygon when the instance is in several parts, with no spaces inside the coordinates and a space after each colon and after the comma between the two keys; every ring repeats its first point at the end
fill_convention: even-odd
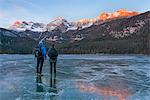
{"type": "Polygon", "coordinates": [[[35,70],[33,55],[0,55],[0,100],[150,100],[150,56],[60,55],[55,79],[48,60],[35,70]]]}

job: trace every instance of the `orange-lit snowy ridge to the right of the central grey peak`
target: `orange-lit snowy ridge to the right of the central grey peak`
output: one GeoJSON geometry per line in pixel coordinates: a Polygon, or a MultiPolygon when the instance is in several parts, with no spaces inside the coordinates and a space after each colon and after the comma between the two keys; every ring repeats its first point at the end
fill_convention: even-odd
{"type": "Polygon", "coordinates": [[[96,18],[80,19],[76,22],[72,22],[72,24],[74,27],[76,27],[78,29],[84,29],[84,28],[88,28],[92,25],[99,25],[99,24],[105,22],[106,20],[112,20],[112,19],[123,18],[123,17],[132,17],[132,16],[135,16],[138,14],[140,14],[140,13],[120,9],[114,13],[103,12],[101,15],[97,16],[96,18]]]}

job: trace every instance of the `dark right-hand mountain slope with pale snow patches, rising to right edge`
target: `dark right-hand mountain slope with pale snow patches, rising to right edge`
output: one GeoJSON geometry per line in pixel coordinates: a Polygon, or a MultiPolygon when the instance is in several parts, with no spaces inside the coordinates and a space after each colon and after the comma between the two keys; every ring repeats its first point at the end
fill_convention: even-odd
{"type": "Polygon", "coordinates": [[[81,30],[87,38],[62,47],[70,53],[141,53],[150,54],[150,12],[112,20],[81,30]]]}

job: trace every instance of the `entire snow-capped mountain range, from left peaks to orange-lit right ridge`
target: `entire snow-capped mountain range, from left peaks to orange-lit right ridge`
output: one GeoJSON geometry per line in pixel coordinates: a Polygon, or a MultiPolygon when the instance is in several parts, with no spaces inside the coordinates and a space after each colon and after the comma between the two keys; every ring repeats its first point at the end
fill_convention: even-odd
{"type": "Polygon", "coordinates": [[[62,32],[65,32],[68,30],[84,29],[90,27],[91,25],[97,25],[107,20],[131,17],[138,14],[140,13],[120,9],[114,13],[103,12],[100,14],[100,16],[97,16],[95,18],[91,18],[91,19],[84,18],[74,22],[68,22],[66,19],[62,17],[55,18],[54,20],[48,22],[48,24],[34,23],[32,21],[31,22],[16,21],[10,26],[10,29],[19,30],[19,31],[31,30],[31,31],[40,31],[40,32],[59,29],[62,32]]]}

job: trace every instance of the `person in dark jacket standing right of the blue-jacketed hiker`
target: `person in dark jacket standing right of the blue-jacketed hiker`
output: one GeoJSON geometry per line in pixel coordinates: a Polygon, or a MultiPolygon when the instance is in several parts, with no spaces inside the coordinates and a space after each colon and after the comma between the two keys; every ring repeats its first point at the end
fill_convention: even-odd
{"type": "Polygon", "coordinates": [[[52,72],[54,69],[54,75],[56,76],[56,62],[57,62],[57,57],[58,57],[58,52],[55,49],[55,45],[52,45],[52,48],[48,50],[48,56],[49,56],[49,61],[50,61],[50,73],[52,76],[52,72]]]}

